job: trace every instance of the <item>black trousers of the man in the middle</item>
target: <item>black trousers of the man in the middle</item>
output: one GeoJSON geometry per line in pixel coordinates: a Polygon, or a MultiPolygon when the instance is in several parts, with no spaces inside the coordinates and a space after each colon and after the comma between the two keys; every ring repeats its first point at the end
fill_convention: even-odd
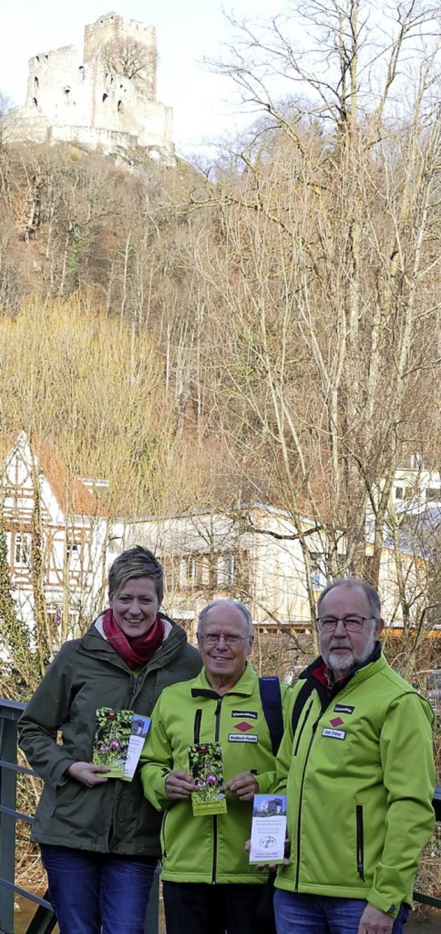
{"type": "MultiPolygon", "coordinates": [[[[257,934],[262,885],[164,882],[167,934],[257,934]]],[[[264,934],[264,932],[262,932],[264,934]]]]}

